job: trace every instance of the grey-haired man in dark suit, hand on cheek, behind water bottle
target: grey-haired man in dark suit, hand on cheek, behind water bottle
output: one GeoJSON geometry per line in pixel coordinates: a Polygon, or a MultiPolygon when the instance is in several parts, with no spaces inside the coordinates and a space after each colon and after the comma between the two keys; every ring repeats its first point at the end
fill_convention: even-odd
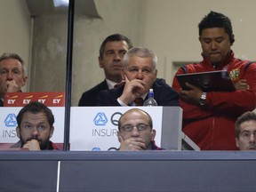
{"type": "Polygon", "coordinates": [[[179,106],[179,95],[164,79],[156,78],[157,57],[155,52],[134,47],[124,55],[122,76],[125,83],[120,87],[99,93],[98,106],[134,106],[136,98],[146,100],[150,88],[154,89],[159,106],[179,106]]]}

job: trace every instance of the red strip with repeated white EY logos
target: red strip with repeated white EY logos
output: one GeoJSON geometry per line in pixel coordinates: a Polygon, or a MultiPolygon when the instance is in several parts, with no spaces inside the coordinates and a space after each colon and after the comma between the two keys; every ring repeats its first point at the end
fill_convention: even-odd
{"type": "Polygon", "coordinates": [[[39,101],[47,107],[64,107],[65,92],[7,92],[4,107],[23,107],[31,101],[39,101]]]}

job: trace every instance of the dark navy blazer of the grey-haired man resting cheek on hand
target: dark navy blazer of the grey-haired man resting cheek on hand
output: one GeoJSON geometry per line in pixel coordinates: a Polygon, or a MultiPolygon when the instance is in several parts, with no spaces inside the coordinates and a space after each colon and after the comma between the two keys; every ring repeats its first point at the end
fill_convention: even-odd
{"type": "MultiPolygon", "coordinates": [[[[179,95],[164,79],[157,78],[152,88],[154,89],[154,98],[158,106],[180,106],[179,95]]],[[[99,93],[97,99],[98,106],[120,106],[117,102],[124,91],[124,85],[119,88],[104,90],[99,93]]],[[[145,100],[148,99],[148,96],[145,100]]]]}

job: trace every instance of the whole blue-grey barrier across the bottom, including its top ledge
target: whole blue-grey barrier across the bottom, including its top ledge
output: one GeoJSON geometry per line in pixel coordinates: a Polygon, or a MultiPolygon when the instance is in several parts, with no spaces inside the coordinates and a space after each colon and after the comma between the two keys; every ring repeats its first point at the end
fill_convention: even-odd
{"type": "Polygon", "coordinates": [[[0,191],[248,192],[255,160],[242,151],[0,151],[0,191]]]}

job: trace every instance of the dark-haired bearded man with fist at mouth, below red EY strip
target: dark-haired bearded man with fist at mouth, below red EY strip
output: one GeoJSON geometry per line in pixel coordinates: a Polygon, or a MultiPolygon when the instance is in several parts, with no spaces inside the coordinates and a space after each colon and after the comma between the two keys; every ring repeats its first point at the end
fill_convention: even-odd
{"type": "Polygon", "coordinates": [[[28,148],[28,150],[56,150],[50,140],[54,127],[52,110],[38,101],[30,102],[21,108],[17,116],[16,132],[20,140],[11,148],[28,148]]]}

